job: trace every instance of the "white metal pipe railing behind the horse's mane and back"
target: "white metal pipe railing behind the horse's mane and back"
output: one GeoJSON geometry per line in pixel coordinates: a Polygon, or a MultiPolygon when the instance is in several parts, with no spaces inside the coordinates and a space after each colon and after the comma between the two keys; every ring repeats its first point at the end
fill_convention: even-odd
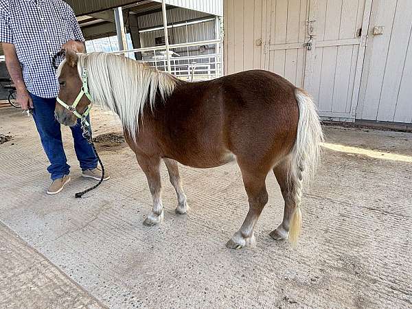
{"type": "MultiPolygon", "coordinates": [[[[155,47],[143,47],[136,49],[127,49],[119,52],[113,52],[113,54],[124,54],[131,57],[135,53],[141,53],[142,60],[138,62],[144,62],[150,67],[154,67],[160,71],[168,71],[167,57],[164,53],[165,46],[155,47]]],[[[170,49],[170,66],[174,76],[183,80],[211,80],[219,78],[223,73],[222,66],[222,41],[209,40],[193,43],[181,43],[169,45],[170,49]],[[214,45],[214,47],[208,48],[214,49],[211,54],[201,54],[196,56],[180,56],[180,54],[190,54],[196,51],[189,47],[201,47],[214,45]],[[176,52],[174,52],[175,50],[176,52]]]]}

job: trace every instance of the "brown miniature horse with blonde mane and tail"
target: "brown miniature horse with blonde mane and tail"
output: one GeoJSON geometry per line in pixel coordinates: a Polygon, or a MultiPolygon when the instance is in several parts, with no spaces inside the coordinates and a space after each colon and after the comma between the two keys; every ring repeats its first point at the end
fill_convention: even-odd
{"type": "MultiPolygon", "coordinates": [[[[93,102],[119,115],[124,135],[146,174],[153,208],[144,225],[163,220],[160,163],[177,194],[177,214],[187,211],[177,162],[211,168],[236,160],[249,198],[249,212],[228,248],[254,245],[253,228],[268,201],[266,176],[273,170],[285,201],[275,240],[300,233],[304,179],[319,160],[323,133],[312,99],[268,71],[244,71],[206,82],[184,82],[144,64],[106,53],[67,52],[58,68],[60,100],[70,105],[82,89],[82,72],[93,102]]],[[[91,104],[83,95],[82,113],[91,104]]],[[[73,108],[72,108],[73,109],[73,108]]],[[[76,115],[56,102],[56,119],[76,124],[76,115]]]]}

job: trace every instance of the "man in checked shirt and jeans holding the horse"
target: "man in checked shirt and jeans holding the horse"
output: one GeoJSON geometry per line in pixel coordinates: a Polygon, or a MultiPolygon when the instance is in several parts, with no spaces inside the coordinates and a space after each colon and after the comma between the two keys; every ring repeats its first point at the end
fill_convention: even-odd
{"type": "MultiPolygon", "coordinates": [[[[70,5],[62,0],[0,0],[0,42],[5,62],[16,86],[17,101],[32,111],[41,144],[49,159],[52,184],[47,194],[57,194],[69,183],[60,124],[54,118],[59,84],[52,66],[60,49],[84,52],[84,38],[70,5]]],[[[62,58],[58,58],[60,62],[62,58]]],[[[82,137],[80,126],[72,126],[74,149],[82,176],[100,180],[98,159],[82,137]]],[[[105,180],[109,179],[105,173],[105,180]]]]}

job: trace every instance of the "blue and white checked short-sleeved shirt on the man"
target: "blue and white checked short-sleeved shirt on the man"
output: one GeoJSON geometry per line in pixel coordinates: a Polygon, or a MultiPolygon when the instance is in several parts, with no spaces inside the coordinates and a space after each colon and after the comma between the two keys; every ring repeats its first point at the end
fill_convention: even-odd
{"type": "MultiPolygon", "coordinates": [[[[62,0],[0,0],[0,42],[14,44],[27,90],[56,98],[52,56],[69,40],[84,41],[76,16],[62,0]]],[[[58,59],[60,62],[62,59],[58,59]]]]}

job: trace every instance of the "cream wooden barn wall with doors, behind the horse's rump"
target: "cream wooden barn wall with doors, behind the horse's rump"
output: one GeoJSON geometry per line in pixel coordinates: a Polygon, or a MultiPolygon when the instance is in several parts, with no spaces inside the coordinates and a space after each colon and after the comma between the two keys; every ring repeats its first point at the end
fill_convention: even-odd
{"type": "Polygon", "coordinates": [[[266,69],[323,119],[412,124],[409,0],[225,0],[225,73],[266,69]]]}

